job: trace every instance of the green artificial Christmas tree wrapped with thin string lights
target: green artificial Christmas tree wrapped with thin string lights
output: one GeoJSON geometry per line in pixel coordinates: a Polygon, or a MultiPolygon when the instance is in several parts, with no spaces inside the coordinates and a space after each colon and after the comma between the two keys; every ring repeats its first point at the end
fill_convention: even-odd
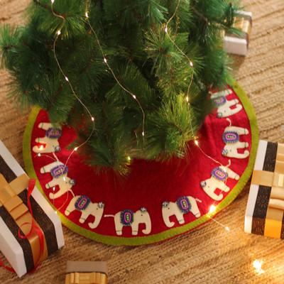
{"type": "MultiPolygon", "coordinates": [[[[11,97],[74,126],[97,169],[186,157],[229,80],[227,0],[33,0],[26,26],[1,28],[11,97]]],[[[82,148],[81,148],[82,146],[82,148]]],[[[77,148],[75,148],[77,150],[77,148]]],[[[79,152],[80,152],[79,151],[79,152]]]]}

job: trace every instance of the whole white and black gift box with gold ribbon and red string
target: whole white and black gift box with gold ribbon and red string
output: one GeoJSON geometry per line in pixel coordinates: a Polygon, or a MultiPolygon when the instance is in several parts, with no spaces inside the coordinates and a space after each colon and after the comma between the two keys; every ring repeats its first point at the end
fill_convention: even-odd
{"type": "Polygon", "coordinates": [[[28,194],[29,182],[0,141],[0,250],[18,277],[64,246],[58,215],[36,187],[28,194]]]}

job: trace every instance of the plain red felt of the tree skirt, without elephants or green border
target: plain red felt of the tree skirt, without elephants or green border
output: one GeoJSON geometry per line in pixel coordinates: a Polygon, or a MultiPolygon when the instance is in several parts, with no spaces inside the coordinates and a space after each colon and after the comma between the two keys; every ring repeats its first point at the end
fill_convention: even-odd
{"type": "MultiPolygon", "coordinates": [[[[237,98],[234,92],[227,96],[227,99],[229,100],[234,98],[237,98]]],[[[244,108],[239,111],[238,114],[229,116],[229,119],[231,119],[233,126],[241,126],[249,129],[249,134],[241,136],[241,141],[249,142],[248,150],[250,151],[251,128],[244,108]]],[[[48,115],[45,111],[40,111],[32,131],[31,149],[35,145],[35,138],[45,136],[45,131],[39,129],[38,124],[40,122],[48,121],[48,115]]],[[[199,133],[200,147],[205,153],[211,155],[216,160],[219,160],[223,165],[227,165],[229,160],[229,158],[222,156],[222,149],[224,148],[222,133],[226,126],[229,126],[229,122],[225,118],[217,118],[215,111],[213,114],[207,116],[199,133]]],[[[70,153],[65,147],[73,141],[76,134],[75,131],[69,127],[64,127],[62,133],[62,137],[59,139],[62,151],[56,153],[56,155],[62,163],[65,163],[67,156],[70,153]]],[[[185,160],[174,158],[168,163],[135,160],[131,174],[126,180],[117,178],[110,173],[97,175],[91,167],[84,164],[84,161],[80,158],[79,154],[80,153],[74,153],[67,164],[69,168],[68,176],[76,180],[76,185],[72,187],[75,195],[87,195],[92,202],[104,202],[104,214],[116,214],[116,212],[124,209],[136,211],[141,207],[146,207],[151,216],[151,234],[157,234],[169,229],[163,222],[162,203],[164,201],[175,202],[178,197],[191,195],[192,197],[202,200],[202,203],[198,203],[201,215],[208,212],[211,204],[218,204],[218,202],[212,200],[200,186],[202,180],[210,178],[211,171],[213,168],[217,167],[217,164],[203,155],[194,143],[190,144],[190,155],[189,158],[185,160]]],[[[52,177],[50,173],[40,173],[40,168],[52,163],[53,159],[50,157],[53,157],[53,155],[45,154],[38,157],[36,153],[32,152],[32,156],[35,173],[40,180],[45,195],[48,196],[52,190],[46,189],[45,184],[50,182],[52,177]]],[[[249,157],[244,159],[230,159],[231,170],[234,170],[235,173],[241,176],[249,162],[249,157]]],[[[226,185],[232,189],[234,185],[236,185],[236,182],[237,180],[229,178],[226,185]]],[[[57,191],[58,188],[55,189],[55,192],[57,191]]],[[[218,190],[216,192],[218,193],[218,190]]],[[[223,192],[224,198],[228,194],[229,192],[223,192]]],[[[67,199],[69,201],[71,198],[72,195],[69,193],[69,195],[62,195],[62,197],[55,199],[54,201],[50,200],[50,203],[54,204],[55,207],[60,208],[67,199]]],[[[69,202],[66,202],[60,209],[62,214],[64,214],[68,203],[69,202]]],[[[185,224],[196,219],[191,212],[185,214],[184,217],[185,224]]],[[[93,222],[94,217],[90,216],[84,224],[80,224],[80,212],[75,211],[67,218],[75,224],[82,226],[84,229],[94,231],[97,234],[116,236],[113,218],[102,217],[102,220],[96,229],[89,229],[88,226],[88,222],[93,222]]],[[[174,216],[171,218],[173,218],[175,226],[180,226],[174,216]]],[[[146,236],[141,232],[143,226],[144,225],[141,225],[141,227],[139,227],[138,236],[146,236]]],[[[124,227],[122,236],[132,236],[131,228],[124,227]]]]}

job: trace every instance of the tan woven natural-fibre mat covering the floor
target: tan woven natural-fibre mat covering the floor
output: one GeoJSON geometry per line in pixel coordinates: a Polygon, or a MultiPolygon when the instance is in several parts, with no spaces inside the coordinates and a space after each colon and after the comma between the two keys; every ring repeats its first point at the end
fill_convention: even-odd
{"type": "MultiPolygon", "coordinates": [[[[23,23],[31,0],[0,0],[0,23],[23,23]]],[[[284,142],[284,1],[246,0],[253,12],[249,54],[236,59],[236,79],[256,109],[260,137],[284,142]]],[[[23,165],[21,145],[27,115],[6,98],[9,77],[0,70],[0,139],[23,165]]],[[[64,228],[66,246],[38,271],[18,280],[0,268],[0,283],[64,283],[67,260],[107,261],[109,283],[284,283],[284,242],[244,233],[249,188],[217,217],[231,231],[209,222],[190,233],[141,247],[97,244],[64,228]],[[257,275],[254,259],[263,259],[257,275]]],[[[1,256],[2,257],[2,256],[1,256]]]]}

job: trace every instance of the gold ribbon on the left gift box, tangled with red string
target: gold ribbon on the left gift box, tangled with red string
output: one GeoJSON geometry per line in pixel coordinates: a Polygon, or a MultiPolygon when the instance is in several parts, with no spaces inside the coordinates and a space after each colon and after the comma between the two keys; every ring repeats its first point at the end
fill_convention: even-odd
{"type": "MultiPolygon", "coordinates": [[[[23,190],[26,190],[28,187],[28,180],[29,178],[27,175],[21,175],[9,183],[5,180],[3,175],[0,175],[0,207],[5,207],[25,236],[30,233],[31,226],[28,224],[31,224],[33,217],[28,211],[26,204],[23,204],[23,200],[18,197],[18,194],[23,192],[23,190]]],[[[35,220],[34,222],[38,228],[40,228],[39,224],[35,220]]],[[[40,262],[45,260],[48,257],[46,240],[44,241],[43,253],[40,255],[40,239],[38,234],[33,232],[27,237],[27,239],[31,244],[33,263],[38,263],[38,259],[40,259],[40,262]]]]}

